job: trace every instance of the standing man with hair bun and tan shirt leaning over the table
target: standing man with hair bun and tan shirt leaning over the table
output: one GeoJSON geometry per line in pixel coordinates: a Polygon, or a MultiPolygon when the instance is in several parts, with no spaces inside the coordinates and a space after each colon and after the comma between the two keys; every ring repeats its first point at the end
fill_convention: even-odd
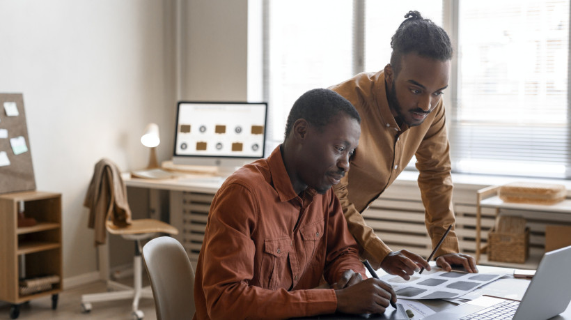
{"type": "MultiPolygon", "coordinates": [[[[416,155],[425,223],[432,247],[450,224],[451,160],[442,94],[448,87],[452,45],[446,31],[409,11],[391,40],[391,62],[378,73],[361,73],[331,89],[352,102],[361,115],[361,139],[351,174],[334,187],[361,255],[374,268],[405,280],[428,263],[408,250],[393,252],[368,227],[361,213],[395,181],[416,155]]],[[[458,253],[453,230],[435,253],[437,265],[462,264],[478,272],[476,261],[458,253]]]]}

